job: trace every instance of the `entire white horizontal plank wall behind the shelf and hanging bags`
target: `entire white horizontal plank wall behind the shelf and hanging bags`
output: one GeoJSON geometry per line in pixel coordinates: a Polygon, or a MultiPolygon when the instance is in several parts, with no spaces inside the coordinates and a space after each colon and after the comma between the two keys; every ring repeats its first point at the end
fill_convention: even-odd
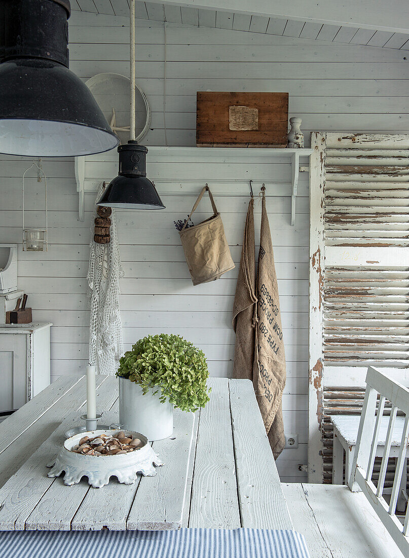
{"type": "MultiPolygon", "coordinates": [[[[124,17],[73,13],[70,18],[70,66],[82,79],[114,71],[128,75],[128,20],[124,17]]],[[[224,29],[137,21],[138,83],[153,111],[149,145],[193,146],[197,90],[288,91],[290,113],[310,129],[337,131],[405,131],[409,127],[409,66],[404,52],[378,47],[340,45],[293,37],[224,29]],[[167,59],[164,102],[164,59],[167,59]],[[163,108],[166,109],[164,118],[163,108]]],[[[128,100],[124,99],[124,110],[128,100]]],[[[228,163],[228,162],[227,162],[228,163]]],[[[283,400],[285,430],[299,434],[296,450],[277,461],[283,480],[306,480],[298,465],[307,459],[308,438],[308,180],[300,175],[295,227],[290,227],[288,163],[275,161],[274,190],[267,194],[272,240],[281,296],[288,381],[283,400]]],[[[0,242],[21,239],[21,176],[29,166],[19,157],[0,159],[0,242]]],[[[19,287],[29,295],[33,318],[51,321],[52,378],[83,373],[88,357],[89,311],[86,274],[94,196],[86,195],[85,221],[78,219],[74,161],[43,160],[48,177],[48,252],[19,251],[19,287]]],[[[114,172],[114,171],[113,171],[114,172]]],[[[192,174],[193,172],[193,174],[192,174]]],[[[248,197],[224,175],[207,177],[222,213],[234,261],[240,261],[248,197]],[[235,194],[235,195],[231,195],[235,194]]],[[[236,270],[221,280],[193,287],[173,221],[185,218],[201,184],[189,183],[193,167],[181,165],[183,186],[176,195],[160,185],[167,209],[118,215],[125,277],[121,309],[125,347],[148,333],[181,333],[200,345],[213,376],[229,376],[234,334],[231,307],[236,270]]],[[[43,185],[26,183],[28,226],[43,223],[43,185]]],[[[250,169],[243,179],[250,179],[250,169]]],[[[110,177],[107,177],[108,179],[110,177]]],[[[173,185],[174,186],[174,185],[173,185]]],[[[158,186],[159,187],[159,186],[158,186]]],[[[208,216],[201,206],[195,222],[208,216]]],[[[260,204],[255,203],[256,235],[260,204]]]]}

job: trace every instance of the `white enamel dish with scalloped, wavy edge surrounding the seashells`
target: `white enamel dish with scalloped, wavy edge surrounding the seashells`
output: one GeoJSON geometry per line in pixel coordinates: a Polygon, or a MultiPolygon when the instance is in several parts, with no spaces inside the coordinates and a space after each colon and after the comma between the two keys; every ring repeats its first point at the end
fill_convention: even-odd
{"type": "Polygon", "coordinates": [[[157,474],[154,465],[163,465],[163,461],[154,453],[148,439],[139,432],[124,430],[125,435],[133,434],[134,438],[139,438],[144,442],[142,448],[121,455],[84,455],[70,451],[79,443],[83,436],[94,437],[101,434],[115,434],[119,430],[92,430],[81,432],[65,440],[59,455],[57,455],[52,469],[48,472],[48,477],[59,477],[64,471],[64,484],[71,486],[80,482],[82,477],[87,477],[89,484],[94,488],[101,488],[109,483],[111,477],[118,478],[120,483],[133,484],[137,478],[137,473],[142,473],[144,477],[153,477],[157,474]]]}

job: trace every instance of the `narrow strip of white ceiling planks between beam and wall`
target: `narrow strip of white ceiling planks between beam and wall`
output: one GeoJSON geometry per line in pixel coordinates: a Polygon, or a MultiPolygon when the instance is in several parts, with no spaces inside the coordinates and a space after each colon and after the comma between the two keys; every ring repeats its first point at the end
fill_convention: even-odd
{"type": "MultiPolygon", "coordinates": [[[[103,13],[113,16],[129,16],[128,0],[72,0],[73,10],[103,13]]],[[[235,31],[251,31],[267,35],[301,37],[302,39],[343,42],[352,45],[379,46],[388,49],[409,50],[409,35],[356,27],[339,27],[310,21],[284,20],[274,17],[222,12],[183,6],[164,6],[153,2],[136,3],[137,18],[152,21],[168,21],[218,27],[235,31]]]]}

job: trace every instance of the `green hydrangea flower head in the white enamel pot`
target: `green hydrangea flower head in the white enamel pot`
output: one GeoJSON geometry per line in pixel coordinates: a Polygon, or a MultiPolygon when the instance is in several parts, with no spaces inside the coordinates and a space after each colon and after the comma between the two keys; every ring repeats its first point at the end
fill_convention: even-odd
{"type": "Polygon", "coordinates": [[[119,363],[116,376],[142,386],[144,395],[154,388],[162,403],[169,400],[182,411],[196,411],[209,401],[205,354],[179,335],[139,339],[119,363]]]}

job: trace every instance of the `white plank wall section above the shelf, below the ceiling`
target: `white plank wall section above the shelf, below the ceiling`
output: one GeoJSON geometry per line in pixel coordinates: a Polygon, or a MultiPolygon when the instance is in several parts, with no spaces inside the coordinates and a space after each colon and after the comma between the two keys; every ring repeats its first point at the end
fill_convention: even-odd
{"type": "MultiPolygon", "coordinates": [[[[70,64],[81,78],[129,75],[126,18],[74,12],[69,21],[70,64]]],[[[136,37],[137,80],[152,108],[147,145],[164,145],[164,124],[168,145],[194,145],[198,90],[288,92],[307,142],[311,130],[409,128],[407,51],[177,23],[164,33],[163,22],[147,20],[136,37]]]]}

